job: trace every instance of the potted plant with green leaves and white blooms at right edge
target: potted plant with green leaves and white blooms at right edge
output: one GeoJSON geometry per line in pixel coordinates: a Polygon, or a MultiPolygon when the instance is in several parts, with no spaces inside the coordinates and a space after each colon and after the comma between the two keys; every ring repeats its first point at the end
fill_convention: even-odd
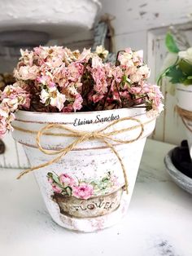
{"type": "MultiPolygon", "coordinates": [[[[180,42],[181,38],[178,39],[180,42]]],[[[176,90],[177,113],[185,125],[190,157],[192,158],[192,47],[180,51],[177,40],[175,40],[172,33],[167,33],[165,42],[168,51],[171,52],[171,55],[168,55],[167,58],[170,64],[160,74],[158,83],[163,77],[167,77],[169,82],[175,86],[173,91],[176,90]],[[170,56],[173,56],[173,58],[170,59],[170,56]]],[[[184,45],[189,46],[189,43],[184,42],[184,45]]],[[[165,63],[167,60],[165,60],[165,63]]]]}

